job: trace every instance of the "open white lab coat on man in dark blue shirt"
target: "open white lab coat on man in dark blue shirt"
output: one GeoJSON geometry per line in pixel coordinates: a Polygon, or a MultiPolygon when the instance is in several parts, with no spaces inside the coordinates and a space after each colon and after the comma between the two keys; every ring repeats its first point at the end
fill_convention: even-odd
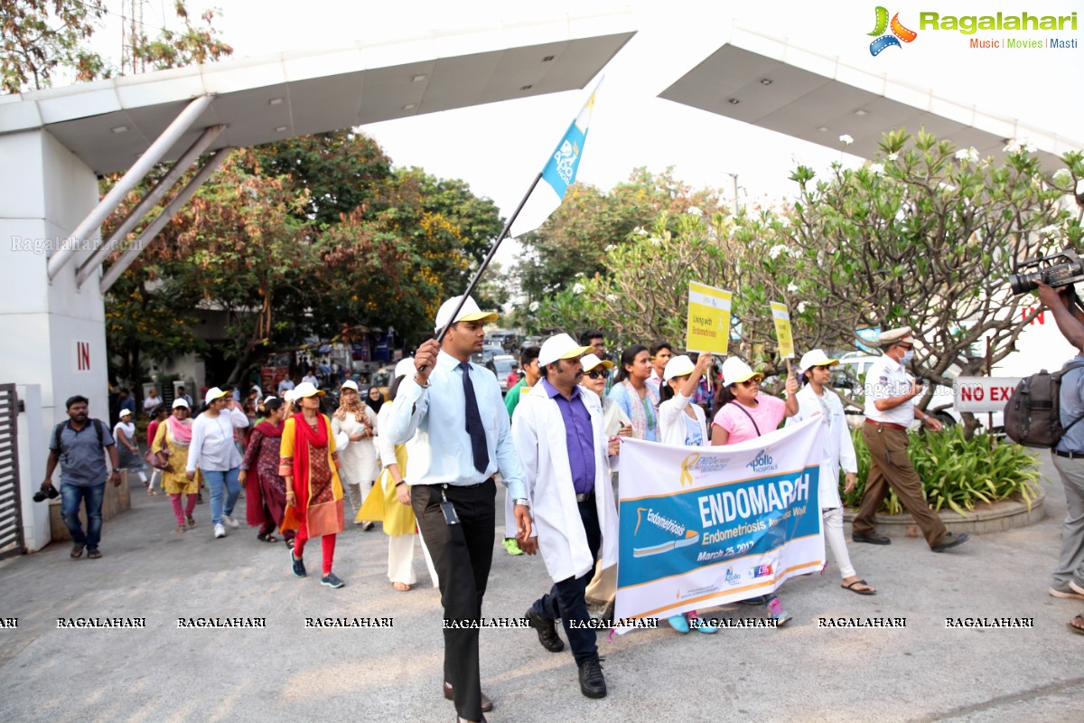
{"type": "MultiPolygon", "coordinates": [[[[608,440],[598,396],[580,387],[595,438],[595,506],[602,531],[603,567],[617,564],[617,507],[610,487],[608,440]]],[[[580,521],[572,472],[568,462],[565,422],[545,385],[520,397],[512,418],[512,440],[522,462],[527,494],[546,571],[555,581],[578,578],[594,569],[588,535],[580,521]]]]}

